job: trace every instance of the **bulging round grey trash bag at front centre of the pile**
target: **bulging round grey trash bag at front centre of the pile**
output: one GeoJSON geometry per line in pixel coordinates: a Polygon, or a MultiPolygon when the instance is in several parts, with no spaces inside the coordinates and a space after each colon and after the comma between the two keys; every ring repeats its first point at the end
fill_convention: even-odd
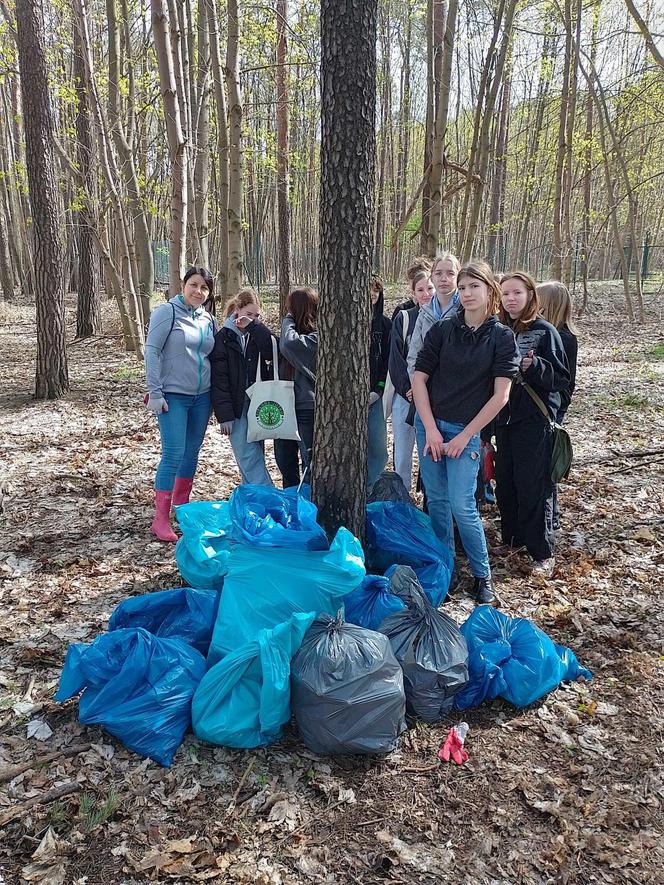
{"type": "Polygon", "coordinates": [[[406,702],[387,637],[319,615],[291,664],[291,705],[314,753],[394,750],[406,728],[406,702]]]}

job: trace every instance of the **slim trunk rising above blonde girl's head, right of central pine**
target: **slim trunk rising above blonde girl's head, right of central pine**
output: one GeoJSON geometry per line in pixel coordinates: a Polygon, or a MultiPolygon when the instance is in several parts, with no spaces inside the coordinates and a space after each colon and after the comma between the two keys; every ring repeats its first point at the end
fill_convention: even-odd
{"type": "Polygon", "coordinates": [[[445,39],[440,75],[440,91],[436,107],[436,122],[431,151],[429,171],[429,224],[427,226],[426,253],[434,258],[438,251],[443,220],[443,175],[445,172],[445,139],[447,137],[447,116],[450,106],[450,83],[452,60],[454,57],[454,37],[456,34],[457,0],[450,0],[445,20],[445,39]]]}

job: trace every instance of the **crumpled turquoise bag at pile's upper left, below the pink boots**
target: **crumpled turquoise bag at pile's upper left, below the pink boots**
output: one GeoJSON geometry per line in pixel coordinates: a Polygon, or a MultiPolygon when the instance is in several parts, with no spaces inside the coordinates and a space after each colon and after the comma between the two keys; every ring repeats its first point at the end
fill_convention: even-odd
{"type": "Polygon", "coordinates": [[[221,590],[233,545],[227,501],[195,501],[176,509],[182,537],[175,545],[175,560],[190,587],[221,590]]]}

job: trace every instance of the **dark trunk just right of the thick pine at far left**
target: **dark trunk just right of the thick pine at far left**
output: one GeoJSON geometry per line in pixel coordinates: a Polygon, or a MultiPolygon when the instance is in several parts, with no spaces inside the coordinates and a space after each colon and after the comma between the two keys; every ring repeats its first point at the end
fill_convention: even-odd
{"type": "Polygon", "coordinates": [[[74,82],[76,88],[76,141],[78,168],[83,180],[82,207],[76,213],[78,234],[78,273],[76,337],[90,338],[101,333],[99,268],[92,228],[92,195],[95,188],[94,153],[90,132],[90,108],[85,88],[85,64],[78,29],[74,26],[74,82]]]}

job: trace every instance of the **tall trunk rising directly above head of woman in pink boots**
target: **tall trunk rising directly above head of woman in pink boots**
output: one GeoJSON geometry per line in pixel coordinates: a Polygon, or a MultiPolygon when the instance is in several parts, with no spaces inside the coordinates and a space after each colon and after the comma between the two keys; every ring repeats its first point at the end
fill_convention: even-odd
{"type": "MultiPolygon", "coordinates": [[[[151,0],[152,33],[159,63],[159,81],[164,102],[166,135],[171,156],[171,222],[170,248],[168,253],[168,278],[171,296],[177,295],[182,286],[187,242],[187,144],[178,88],[175,63],[169,35],[169,19],[164,0],[151,0]]],[[[180,71],[180,74],[182,72],[180,71]]]]}

